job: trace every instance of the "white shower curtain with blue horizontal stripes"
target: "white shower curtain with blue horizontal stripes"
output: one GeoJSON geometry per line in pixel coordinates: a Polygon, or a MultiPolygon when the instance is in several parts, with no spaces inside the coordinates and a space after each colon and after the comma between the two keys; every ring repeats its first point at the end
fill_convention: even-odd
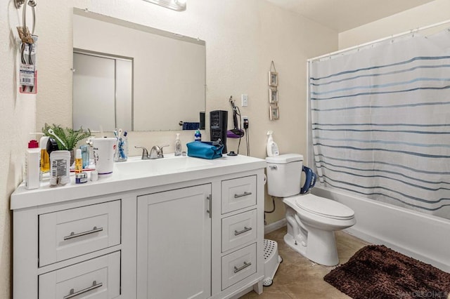
{"type": "Polygon", "coordinates": [[[326,187],[450,218],[450,29],[309,61],[326,187]]]}

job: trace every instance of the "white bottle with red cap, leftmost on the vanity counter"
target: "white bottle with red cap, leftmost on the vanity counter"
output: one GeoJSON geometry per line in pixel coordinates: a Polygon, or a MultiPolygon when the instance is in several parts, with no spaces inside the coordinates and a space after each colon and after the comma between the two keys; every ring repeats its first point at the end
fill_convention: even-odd
{"type": "Polygon", "coordinates": [[[37,140],[28,142],[28,149],[25,153],[25,188],[37,189],[41,186],[41,148],[37,140]]]}

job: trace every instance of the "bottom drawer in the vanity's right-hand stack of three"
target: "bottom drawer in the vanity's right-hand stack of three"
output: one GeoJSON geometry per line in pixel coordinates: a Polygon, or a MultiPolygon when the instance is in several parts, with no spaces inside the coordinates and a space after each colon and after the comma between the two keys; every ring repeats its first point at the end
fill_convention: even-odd
{"type": "Polygon", "coordinates": [[[222,257],[222,290],[256,273],[256,243],[222,257]]]}

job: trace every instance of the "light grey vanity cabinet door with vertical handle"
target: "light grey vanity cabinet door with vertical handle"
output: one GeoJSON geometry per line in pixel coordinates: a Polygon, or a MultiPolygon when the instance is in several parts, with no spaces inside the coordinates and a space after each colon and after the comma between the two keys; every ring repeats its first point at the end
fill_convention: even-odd
{"type": "Polygon", "coordinates": [[[138,197],[138,298],[211,295],[211,185],[138,197]]]}

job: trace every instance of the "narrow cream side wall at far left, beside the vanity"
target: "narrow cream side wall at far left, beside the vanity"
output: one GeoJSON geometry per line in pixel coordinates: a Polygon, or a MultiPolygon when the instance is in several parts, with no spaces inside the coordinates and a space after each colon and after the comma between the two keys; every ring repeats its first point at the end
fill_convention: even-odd
{"type": "Polygon", "coordinates": [[[18,44],[15,41],[22,11],[14,1],[3,1],[0,9],[0,298],[11,296],[12,218],[9,195],[22,180],[27,142],[34,136],[36,96],[20,95],[16,84],[18,44]]]}

